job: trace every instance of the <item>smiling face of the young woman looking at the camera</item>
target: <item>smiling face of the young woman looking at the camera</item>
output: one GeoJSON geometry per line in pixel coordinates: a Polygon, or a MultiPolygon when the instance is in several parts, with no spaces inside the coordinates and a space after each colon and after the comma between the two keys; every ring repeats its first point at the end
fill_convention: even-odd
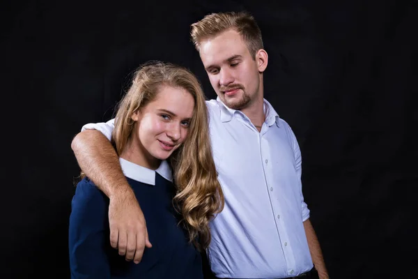
{"type": "Polygon", "coordinates": [[[192,94],[180,87],[162,86],[155,100],[132,114],[132,136],[146,161],[166,160],[183,144],[194,112],[192,94]]]}

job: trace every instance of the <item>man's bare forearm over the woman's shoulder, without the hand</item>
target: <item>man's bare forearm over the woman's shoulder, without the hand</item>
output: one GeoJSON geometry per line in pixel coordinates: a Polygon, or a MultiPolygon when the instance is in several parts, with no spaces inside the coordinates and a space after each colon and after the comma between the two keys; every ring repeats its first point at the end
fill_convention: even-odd
{"type": "Polygon", "coordinates": [[[98,130],[84,130],[71,143],[82,171],[107,197],[132,193],[111,142],[98,130]]]}

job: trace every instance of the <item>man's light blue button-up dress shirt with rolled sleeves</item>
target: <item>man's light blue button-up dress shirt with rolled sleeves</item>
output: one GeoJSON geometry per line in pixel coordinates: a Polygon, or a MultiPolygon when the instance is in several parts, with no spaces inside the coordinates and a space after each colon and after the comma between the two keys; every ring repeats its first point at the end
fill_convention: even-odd
{"type": "MultiPolygon", "coordinates": [[[[259,133],[219,98],[206,102],[224,210],[210,223],[208,259],[219,278],[286,278],[313,268],[303,222],[302,158],[288,123],[264,100],[259,133]]],[[[88,123],[108,139],[114,119],[88,123]]]]}

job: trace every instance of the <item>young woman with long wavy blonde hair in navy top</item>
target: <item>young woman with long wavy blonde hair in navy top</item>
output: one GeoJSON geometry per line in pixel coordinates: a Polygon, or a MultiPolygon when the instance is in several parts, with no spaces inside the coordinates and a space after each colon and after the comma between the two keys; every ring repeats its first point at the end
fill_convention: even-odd
{"type": "Polygon", "coordinates": [[[109,199],[84,177],[70,215],[72,278],[203,278],[200,251],[210,243],[208,223],[224,196],[198,80],[185,68],[148,63],[115,119],[112,141],[153,246],[139,264],[118,255],[109,243],[109,199]]]}

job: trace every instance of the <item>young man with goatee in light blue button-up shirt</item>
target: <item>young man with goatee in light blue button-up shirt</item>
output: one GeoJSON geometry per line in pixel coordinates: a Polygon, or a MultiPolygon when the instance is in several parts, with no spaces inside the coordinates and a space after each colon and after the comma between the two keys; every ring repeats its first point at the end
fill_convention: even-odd
{"type": "MultiPolygon", "coordinates": [[[[207,106],[226,202],[211,223],[212,272],[217,278],[318,278],[317,270],[328,278],[302,195],[297,140],[263,98],[268,54],[258,25],[247,13],[217,13],[192,24],[191,35],[218,96],[207,106]]],[[[139,262],[150,247],[146,223],[109,143],[112,128],[112,121],[84,126],[72,149],[110,198],[112,246],[139,262]]]]}

